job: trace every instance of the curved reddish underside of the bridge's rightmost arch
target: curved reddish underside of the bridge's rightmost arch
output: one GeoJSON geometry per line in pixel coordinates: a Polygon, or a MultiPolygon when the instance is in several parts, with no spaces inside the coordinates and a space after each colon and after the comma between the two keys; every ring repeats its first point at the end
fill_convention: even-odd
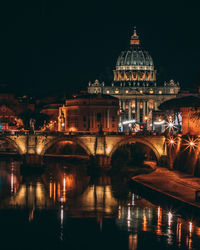
{"type": "Polygon", "coordinates": [[[158,149],[151,142],[149,142],[148,140],[146,140],[144,138],[134,138],[134,137],[129,137],[129,138],[122,139],[117,144],[115,144],[114,147],[112,148],[112,150],[110,151],[109,155],[108,155],[109,158],[110,159],[112,158],[113,153],[120,146],[126,145],[126,144],[131,144],[131,143],[136,143],[136,142],[138,142],[140,144],[143,144],[143,145],[146,145],[147,147],[149,147],[154,152],[154,154],[156,156],[156,159],[157,159],[157,162],[159,162],[161,155],[160,155],[158,149]]]}

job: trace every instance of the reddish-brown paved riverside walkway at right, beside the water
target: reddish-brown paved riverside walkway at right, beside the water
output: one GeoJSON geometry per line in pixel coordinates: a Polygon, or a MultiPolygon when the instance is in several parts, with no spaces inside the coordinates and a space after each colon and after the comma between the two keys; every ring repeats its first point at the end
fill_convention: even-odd
{"type": "Polygon", "coordinates": [[[179,201],[200,208],[200,202],[195,201],[195,192],[200,190],[200,178],[198,177],[157,167],[154,172],[132,177],[132,180],[179,201]]]}

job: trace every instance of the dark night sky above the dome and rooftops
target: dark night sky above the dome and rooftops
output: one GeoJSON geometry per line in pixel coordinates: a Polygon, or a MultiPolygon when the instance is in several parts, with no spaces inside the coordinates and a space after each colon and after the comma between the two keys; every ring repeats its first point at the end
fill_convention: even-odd
{"type": "Polygon", "coordinates": [[[133,27],[159,82],[200,84],[200,9],[160,1],[1,1],[0,82],[16,91],[51,93],[109,84],[133,27]]]}

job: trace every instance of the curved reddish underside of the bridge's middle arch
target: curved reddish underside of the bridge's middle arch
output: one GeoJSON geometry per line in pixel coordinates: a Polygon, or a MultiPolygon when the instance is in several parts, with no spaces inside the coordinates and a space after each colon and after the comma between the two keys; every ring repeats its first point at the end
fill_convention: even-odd
{"type": "Polygon", "coordinates": [[[56,143],[59,143],[59,142],[64,142],[64,141],[69,141],[69,142],[72,142],[74,143],[75,145],[78,145],[80,146],[81,148],[83,148],[85,150],[85,152],[88,154],[88,155],[91,155],[91,151],[89,150],[89,148],[78,138],[66,138],[66,137],[61,137],[61,138],[55,138],[55,139],[52,139],[50,140],[49,142],[47,142],[41,149],[41,152],[40,154],[41,155],[44,155],[46,153],[46,151],[51,147],[53,146],[54,144],[56,143]]]}

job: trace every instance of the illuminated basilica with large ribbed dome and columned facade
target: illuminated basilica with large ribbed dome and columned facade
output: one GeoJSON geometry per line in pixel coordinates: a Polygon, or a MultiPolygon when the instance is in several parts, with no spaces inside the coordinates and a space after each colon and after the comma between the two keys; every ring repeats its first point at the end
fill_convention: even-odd
{"type": "Polygon", "coordinates": [[[130,47],[117,59],[111,86],[98,80],[89,82],[88,86],[89,93],[109,94],[119,99],[119,124],[124,131],[130,130],[135,122],[152,126],[152,111],[158,110],[162,102],[176,97],[179,90],[179,83],[173,80],[157,85],[153,59],[142,48],[136,29],[130,47]]]}

